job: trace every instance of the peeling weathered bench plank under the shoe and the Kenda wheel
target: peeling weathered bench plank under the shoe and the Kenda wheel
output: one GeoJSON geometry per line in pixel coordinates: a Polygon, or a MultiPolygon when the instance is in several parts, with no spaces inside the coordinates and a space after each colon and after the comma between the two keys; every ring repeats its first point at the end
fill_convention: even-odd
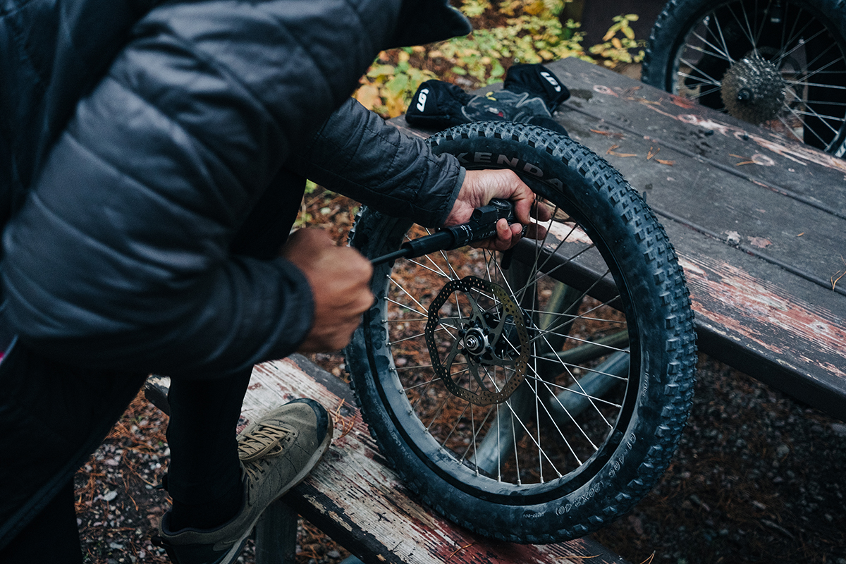
{"type": "MultiPolygon", "coordinates": [[[[148,397],[159,405],[162,386],[148,397]]],[[[148,386],[149,389],[149,386],[148,386]]],[[[307,359],[255,367],[242,424],[296,397],[311,397],[336,413],[326,456],[283,498],[294,511],[365,562],[386,564],[626,564],[589,538],[556,545],[517,545],[470,533],[422,507],[387,468],[352,400],[349,387],[307,359]]]]}

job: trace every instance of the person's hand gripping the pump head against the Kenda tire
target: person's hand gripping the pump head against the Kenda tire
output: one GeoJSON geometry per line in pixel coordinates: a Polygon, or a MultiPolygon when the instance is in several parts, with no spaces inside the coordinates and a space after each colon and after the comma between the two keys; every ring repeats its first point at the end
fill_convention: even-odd
{"type": "Polygon", "coordinates": [[[519,179],[516,173],[508,169],[469,170],[464,175],[459,197],[455,200],[444,227],[452,227],[470,221],[475,208],[487,205],[492,198],[503,198],[514,202],[514,215],[517,221],[511,226],[504,219],[497,222],[497,237],[474,244],[480,249],[508,250],[520,240],[523,226],[525,237],[543,238],[545,227],[532,223],[530,217],[540,222],[552,219],[552,211],[543,204],[535,205],[535,193],[519,179]]]}

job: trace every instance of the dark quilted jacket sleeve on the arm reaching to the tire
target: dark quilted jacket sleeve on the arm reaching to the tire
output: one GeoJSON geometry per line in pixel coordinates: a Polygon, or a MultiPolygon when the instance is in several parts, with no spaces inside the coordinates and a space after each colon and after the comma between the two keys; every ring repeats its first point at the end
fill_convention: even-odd
{"type": "Polygon", "coordinates": [[[321,186],[395,217],[440,227],[464,181],[452,155],[388,125],[350,98],[285,164],[321,186]]]}

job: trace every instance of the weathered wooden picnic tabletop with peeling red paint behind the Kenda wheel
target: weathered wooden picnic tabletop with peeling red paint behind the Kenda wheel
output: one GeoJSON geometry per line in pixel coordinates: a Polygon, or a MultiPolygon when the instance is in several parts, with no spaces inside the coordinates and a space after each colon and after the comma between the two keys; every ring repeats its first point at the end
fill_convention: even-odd
{"type": "Polygon", "coordinates": [[[555,118],[666,227],[700,350],[846,419],[846,161],[576,58],[548,68],[572,93],[555,118]]]}

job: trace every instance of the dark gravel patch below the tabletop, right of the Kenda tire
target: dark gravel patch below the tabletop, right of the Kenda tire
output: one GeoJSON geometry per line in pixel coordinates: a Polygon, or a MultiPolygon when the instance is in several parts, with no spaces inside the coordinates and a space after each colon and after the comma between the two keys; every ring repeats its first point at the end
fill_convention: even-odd
{"type": "Polygon", "coordinates": [[[842,421],[703,356],[673,463],[596,539],[633,562],[846,564],[843,468],[842,421]]]}

